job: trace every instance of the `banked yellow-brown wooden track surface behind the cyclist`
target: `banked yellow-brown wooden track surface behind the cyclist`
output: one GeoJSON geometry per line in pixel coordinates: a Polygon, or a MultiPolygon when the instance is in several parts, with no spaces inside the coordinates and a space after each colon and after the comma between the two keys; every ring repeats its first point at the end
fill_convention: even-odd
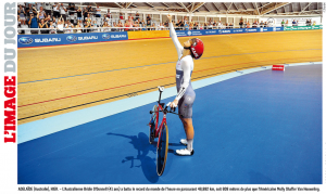
{"type": "MultiPolygon", "coordinates": [[[[199,37],[191,80],[239,69],[322,61],[322,30],[199,37]]],[[[189,38],[179,38],[185,42],[189,38]]],[[[175,87],[170,38],[18,49],[18,125],[175,87]]]]}

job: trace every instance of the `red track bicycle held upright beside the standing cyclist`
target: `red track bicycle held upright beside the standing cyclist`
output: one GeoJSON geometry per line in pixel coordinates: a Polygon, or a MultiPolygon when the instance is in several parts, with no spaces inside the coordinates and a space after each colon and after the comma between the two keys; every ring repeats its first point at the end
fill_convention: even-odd
{"type": "Polygon", "coordinates": [[[156,144],[156,172],[159,176],[162,176],[164,172],[165,164],[166,164],[166,158],[167,158],[167,151],[168,151],[168,129],[167,129],[167,124],[166,124],[166,114],[172,113],[175,115],[179,115],[174,113],[175,108],[170,108],[167,111],[167,107],[170,106],[170,103],[166,104],[164,107],[165,103],[161,103],[161,95],[162,92],[164,91],[164,87],[158,87],[160,91],[160,96],[158,101],[158,105],[154,105],[153,109],[150,111],[151,120],[149,122],[149,143],[153,144],[154,139],[158,139],[158,144],[156,144]],[[163,118],[161,120],[161,124],[159,125],[159,113],[163,113],[163,118]]]}

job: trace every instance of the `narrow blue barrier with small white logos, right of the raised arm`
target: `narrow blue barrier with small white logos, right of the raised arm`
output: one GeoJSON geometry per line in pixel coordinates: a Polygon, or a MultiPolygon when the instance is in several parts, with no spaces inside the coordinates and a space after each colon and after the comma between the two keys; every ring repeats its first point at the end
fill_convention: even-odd
{"type": "Polygon", "coordinates": [[[200,29],[200,30],[176,30],[178,37],[203,36],[203,35],[225,35],[240,33],[264,33],[283,31],[283,27],[259,27],[259,28],[230,28],[230,29],[200,29]]]}

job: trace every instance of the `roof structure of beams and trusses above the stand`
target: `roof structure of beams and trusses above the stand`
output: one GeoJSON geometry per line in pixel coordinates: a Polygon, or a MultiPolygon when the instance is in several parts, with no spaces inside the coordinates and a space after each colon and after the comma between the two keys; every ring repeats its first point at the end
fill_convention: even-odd
{"type": "MultiPolygon", "coordinates": [[[[87,4],[87,3],[83,3],[87,4]]],[[[93,2],[117,9],[241,15],[322,15],[322,2],[93,2]]]]}

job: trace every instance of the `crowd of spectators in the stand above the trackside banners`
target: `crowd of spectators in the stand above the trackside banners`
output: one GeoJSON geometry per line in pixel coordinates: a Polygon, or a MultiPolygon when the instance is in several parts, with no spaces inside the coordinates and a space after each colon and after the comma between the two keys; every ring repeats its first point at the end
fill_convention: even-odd
{"type": "MultiPolygon", "coordinates": [[[[89,31],[121,31],[121,30],[163,30],[168,27],[165,23],[156,23],[148,14],[146,18],[140,18],[139,13],[129,14],[125,18],[123,13],[118,17],[113,17],[113,14],[108,9],[106,13],[102,14],[99,7],[87,5],[84,8],[76,7],[75,3],[41,3],[41,2],[18,2],[17,20],[18,28],[32,28],[32,34],[57,34],[57,33],[89,33],[89,31]],[[101,27],[101,29],[99,29],[101,27]],[[106,28],[105,28],[106,27],[106,28]],[[33,30],[38,28],[37,30],[33,30]],[[45,28],[43,30],[39,30],[45,28]]],[[[234,28],[233,23],[222,23],[210,18],[209,22],[188,21],[188,17],[173,21],[175,28],[178,29],[224,29],[234,28]]],[[[281,22],[283,26],[288,25],[288,21],[281,22]]],[[[298,25],[298,21],[293,21],[292,25],[298,25]]],[[[306,25],[311,25],[311,21],[306,21],[306,25]]],[[[244,22],[240,18],[240,28],[269,27],[267,22],[254,21],[252,24],[249,21],[244,22]]],[[[237,26],[237,27],[238,27],[237,26]]],[[[24,29],[20,30],[24,33],[24,29]]],[[[26,31],[27,33],[27,31],[26,31]]]]}

